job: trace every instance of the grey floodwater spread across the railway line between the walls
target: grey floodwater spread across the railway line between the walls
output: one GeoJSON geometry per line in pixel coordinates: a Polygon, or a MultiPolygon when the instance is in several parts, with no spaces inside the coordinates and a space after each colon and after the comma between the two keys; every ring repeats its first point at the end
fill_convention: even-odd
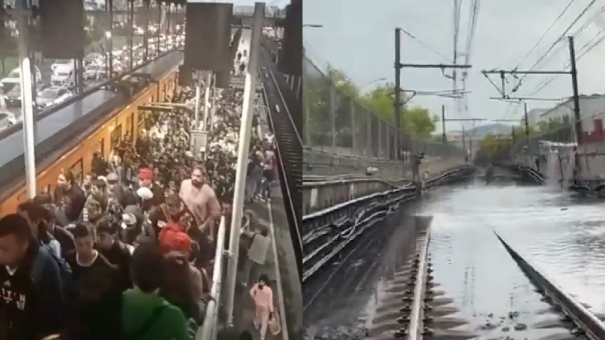
{"type": "Polygon", "coordinates": [[[427,338],[581,339],[535,291],[494,231],[601,316],[604,208],[604,201],[506,181],[434,189],[374,225],[304,285],[308,331],[316,338],[354,339],[376,328],[385,304],[396,306],[393,282],[406,270],[414,243],[411,216],[419,214],[433,217],[429,250],[440,301],[427,338]]]}

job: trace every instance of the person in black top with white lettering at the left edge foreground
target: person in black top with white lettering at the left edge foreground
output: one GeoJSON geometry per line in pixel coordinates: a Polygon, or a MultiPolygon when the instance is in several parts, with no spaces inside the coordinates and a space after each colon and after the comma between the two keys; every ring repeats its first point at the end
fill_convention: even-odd
{"type": "Polygon", "coordinates": [[[0,339],[59,339],[65,303],[59,267],[19,214],[0,219],[0,339]]]}

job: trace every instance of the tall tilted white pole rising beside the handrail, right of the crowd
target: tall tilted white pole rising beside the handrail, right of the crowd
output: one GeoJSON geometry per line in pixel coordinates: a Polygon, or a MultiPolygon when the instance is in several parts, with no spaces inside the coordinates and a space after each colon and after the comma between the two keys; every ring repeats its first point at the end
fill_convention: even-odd
{"type": "Polygon", "coordinates": [[[264,3],[254,5],[254,22],[250,42],[250,58],[246,70],[244,85],[244,102],[241,109],[240,143],[238,145],[237,170],[235,172],[235,189],[233,211],[231,218],[231,237],[229,238],[229,266],[227,267],[227,325],[233,325],[233,307],[235,295],[235,280],[237,276],[237,261],[240,252],[241,217],[244,208],[244,189],[246,188],[246,172],[248,168],[248,151],[250,148],[250,133],[252,132],[252,116],[257,87],[258,57],[260,55],[261,30],[264,20],[264,3]]]}

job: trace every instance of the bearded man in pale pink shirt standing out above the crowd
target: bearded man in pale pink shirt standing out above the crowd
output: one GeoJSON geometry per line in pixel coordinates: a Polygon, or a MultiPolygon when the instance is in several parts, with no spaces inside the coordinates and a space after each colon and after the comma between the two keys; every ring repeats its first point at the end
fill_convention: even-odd
{"type": "Polygon", "coordinates": [[[206,169],[197,165],[191,172],[191,179],[181,183],[179,197],[194,215],[201,232],[208,229],[208,239],[214,240],[214,220],[220,218],[221,204],[214,189],[208,184],[206,169]]]}

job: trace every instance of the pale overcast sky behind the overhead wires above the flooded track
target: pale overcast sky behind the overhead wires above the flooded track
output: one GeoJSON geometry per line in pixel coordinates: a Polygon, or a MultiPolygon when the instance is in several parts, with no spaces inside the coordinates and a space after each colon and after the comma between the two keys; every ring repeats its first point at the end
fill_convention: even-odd
{"type": "MultiPolygon", "coordinates": [[[[468,34],[471,0],[462,1],[459,51],[465,53],[468,34]]],[[[592,0],[576,0],[564,16],[552,28],[538,48],[523,62],[521,69],[531,67],[555,40],[574,21],[592,0]]],[[[387,77],[394,81],[394,28],[402,27],[416,38],[439,51],[441,57],[417,41],[402,34],[401,60],[404,63],[448,63],[453,61],[453,0],[305,0],[304,24],[321,24],[322,28],[304,28],[303,39],[307,56],[320,67],[329,62],[341,68],[356,83],[387,77]]],[[[487,117],[490,119],[517,119],[522,115],[521,105],[489,100],[499,93],[479,72],[483,69],[514,68],[538,42],[546,29],[555,21],[570,0],[483,0],[480,1],[476,34],[470,55],[467,90],[468,112],[456,112],[453,99],[440,97],[416,97],[412,105],[422,105],[439,114],[441,105],[446,105],[448,117],[487,117]]],[[[577,56],[581,47],[595,38],[605,28],[600,13],[605,0],[596,0],[586,14],[572,27],[574,32],[590,18],[593,24],[578,34],[575,42],[577,56]]],[[[601,33],[605,36],[605,32],[601,33]]],[[[593,41],[597,41],[597,39],[593,41]]],[[[542,70],[560,70],[569,60],[566,39],[554,48],[554,56],[541,64],[542,70]]],[[[550,56],[550,54],[549,54],[550,56]]],[[[580,93],[605,93],[605,43],[597,45],[586,56],[578,60],[578,82],[580,93]]],[[[463,57],[459,64],[463,63],[463,57]]],[[[519,94],[529,94],[549,76],[528,76],[519,89],[519,94]]],[[[492,76],[500,83],[499,76],[492,76]]],[[[401,73],[404,88],[414,90],[447,90],[452,88],[450,79],[440,70],[404,69],[401,73]]],[[[510,79],[511,88],[516,80],[510,79]]],[[[371,85],[364,88],[370,90],[371,85]]],[[[561,75],[534,96],[560,98],[571,96],[571,76],[561,75]]],[[[529,108],[550,107],[552,102],[528,102],[529,108]]],[[[480,124],[480,123],[479,123],[480,124]]],[[[470,124],[466,125],[471,126],[470,124]]],[[[448,123],[448,129],[459,129],[459,123],[448,123]]]]}

